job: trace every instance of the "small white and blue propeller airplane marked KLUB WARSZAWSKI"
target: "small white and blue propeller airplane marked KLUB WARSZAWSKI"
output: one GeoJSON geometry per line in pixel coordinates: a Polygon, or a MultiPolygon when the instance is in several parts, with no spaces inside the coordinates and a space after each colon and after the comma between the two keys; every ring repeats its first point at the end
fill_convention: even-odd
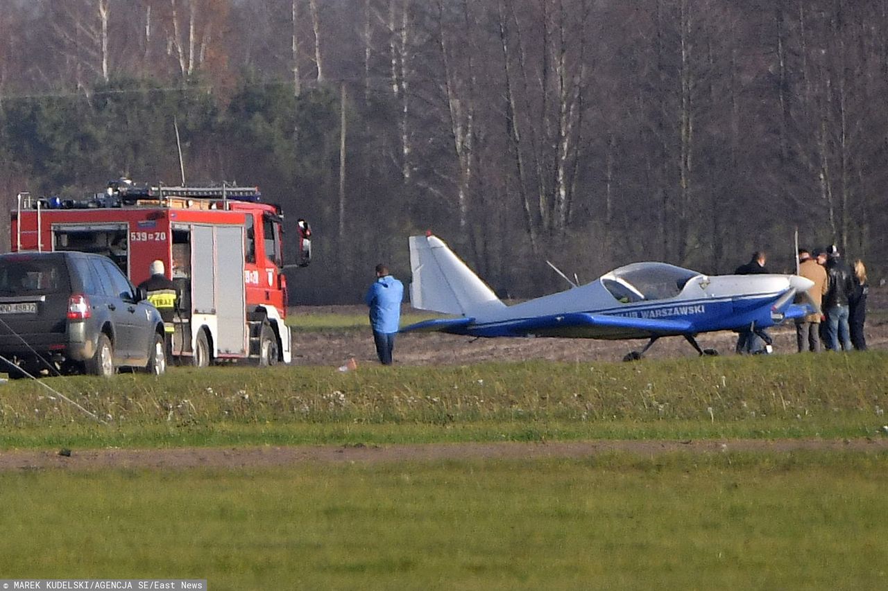
{"type": "Polygon", "coordinates": [[[701,355],[696,335],[717,330],[766,328],[814,311],[793,303],[811,280],[797,275],[717,275],[665,263],[634,263],[583,286],[506,305],[443,240],[411,236],[410,303],[419,310],[457,315],[403,327],[476,337],[559,336],[648,339],[641,359],[662,336],[684,336],[701,355]]]}

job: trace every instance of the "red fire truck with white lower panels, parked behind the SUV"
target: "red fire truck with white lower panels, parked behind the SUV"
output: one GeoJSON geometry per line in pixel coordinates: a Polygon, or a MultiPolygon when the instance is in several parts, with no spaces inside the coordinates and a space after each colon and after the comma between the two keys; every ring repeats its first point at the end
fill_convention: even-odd
{"type": "MultiPolygon", "coordinates": [[[[133,284],[163,261],[178,288],[173,358],[195,366],[251,359],[289,363],[281,208],[257,187],[137,186],[115,181],[89,199],[33,199],[12,212],[12,250],[80,250],[110,257],[133,284]]],[[[311,260],[297,222],[297,260],[311,260]]]]}

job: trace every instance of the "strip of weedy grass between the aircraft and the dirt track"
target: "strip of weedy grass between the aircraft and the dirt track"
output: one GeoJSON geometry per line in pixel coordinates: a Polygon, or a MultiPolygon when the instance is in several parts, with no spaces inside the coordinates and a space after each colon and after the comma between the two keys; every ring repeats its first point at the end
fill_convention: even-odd
{"type": "Polygon", "coordinates": [[[0,449],[874,436],[888,423],[886,361],[873,351],[345,374],[174,368],[159,378],[9,382],[0,389],[0,449]]]}

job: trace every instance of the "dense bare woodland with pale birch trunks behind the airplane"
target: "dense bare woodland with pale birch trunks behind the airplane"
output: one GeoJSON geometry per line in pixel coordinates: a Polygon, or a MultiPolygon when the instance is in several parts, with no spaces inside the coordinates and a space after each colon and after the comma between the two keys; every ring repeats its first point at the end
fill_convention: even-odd
{"type": "MultiPolygon", "coordinates": [[[[638,260],[884,272],[888,0],[0,0],[0,192],[259,185],[315,231],[291,303],[638,260]]],[[[4,244],[9,244],[8,224],[4,244]]]]}

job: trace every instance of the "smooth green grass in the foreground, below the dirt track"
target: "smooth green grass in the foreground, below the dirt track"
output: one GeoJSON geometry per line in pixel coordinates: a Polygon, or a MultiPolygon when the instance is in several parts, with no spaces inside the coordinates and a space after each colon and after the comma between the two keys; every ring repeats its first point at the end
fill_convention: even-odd
{"type": "Polygon", "coordinates": [[[0,474],[0,572],[212,589],[882,588],[884,453],[0,474]]]}

